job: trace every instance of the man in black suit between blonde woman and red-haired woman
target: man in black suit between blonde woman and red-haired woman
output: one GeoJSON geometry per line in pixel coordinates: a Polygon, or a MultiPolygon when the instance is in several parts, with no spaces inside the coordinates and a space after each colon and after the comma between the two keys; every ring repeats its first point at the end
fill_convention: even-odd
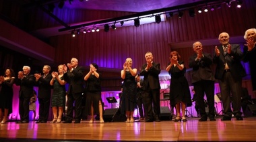
{"type": "Polygon", "coordinates": [[[153,55],[151,52],[145,54],[146,64],[141,67],[140,75],[144,76],[143,90],[144,92],[144,105],[145,105],[145,122],[160,122],[160,82],[158,75],[160,74],[160,64],[153,62],[153,55]],[[154,105],[154,115],[153,106],[154,105]]]}

